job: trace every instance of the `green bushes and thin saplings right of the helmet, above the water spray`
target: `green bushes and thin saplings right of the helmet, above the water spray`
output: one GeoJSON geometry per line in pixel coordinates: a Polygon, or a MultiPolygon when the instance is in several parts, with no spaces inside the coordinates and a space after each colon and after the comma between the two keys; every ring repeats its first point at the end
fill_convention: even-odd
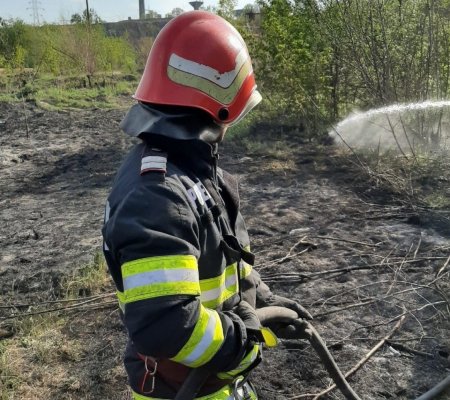
{"type": "Polygon", "coordinates": [[[240,19],[233,3],[219,13],[243,34],[260,90],[310,136],[355,106],[449,95],[449,0],[259,0],[240,19]]]}

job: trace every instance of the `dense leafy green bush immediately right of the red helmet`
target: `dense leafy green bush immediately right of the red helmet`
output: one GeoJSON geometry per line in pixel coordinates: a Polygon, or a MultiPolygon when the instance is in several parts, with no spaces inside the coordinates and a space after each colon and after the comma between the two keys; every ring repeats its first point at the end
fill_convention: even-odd
{"type": "Polygon", "coordinates": [[[328,122],[330,48],[316,29],[318,9],[288,0],[259,4],[260,31],[249,43],[261,90],[282,119],[320,132],[328,122]]]}

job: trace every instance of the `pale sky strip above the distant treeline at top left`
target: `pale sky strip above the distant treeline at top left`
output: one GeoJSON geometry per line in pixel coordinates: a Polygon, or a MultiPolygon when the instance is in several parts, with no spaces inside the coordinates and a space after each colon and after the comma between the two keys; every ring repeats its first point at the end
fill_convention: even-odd
{"type": "MultiPolygon", "coordinates": [[[[101,19],[114,22],[138,18],[139,0],[88,0],[89,8],[93,8],[101,19]]],[[[86,0],[0,0],[0,17],[3,19],[22,19],[33,23],[32,4],[39,7],[40,22],[61,22],[70,20],[74,13],[80,13],[86,8],[86,0]]],[[[238,8],[244,7],[251,0],[238,0],[238,8]]],[[[217,6],[218,0],[204,0],[204,6],[217,6]]],[[[145,8],[155,10],[161,15],[179,7],[192,10],[189,0],[145,0],[145,8]]]]}

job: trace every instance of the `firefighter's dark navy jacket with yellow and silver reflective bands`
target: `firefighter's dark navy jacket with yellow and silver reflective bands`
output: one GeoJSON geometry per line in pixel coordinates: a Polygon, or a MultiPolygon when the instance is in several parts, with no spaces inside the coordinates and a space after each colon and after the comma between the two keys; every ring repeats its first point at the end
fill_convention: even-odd
{"type": "MultiPolygon", "coordinates": [[[[159,132],[182,132],[163,123],[170,116],[136,130],[130,113],[124,130],[142,142],[117,173],[103,228],[129,336],[129,382],[135,398],[173,398],[191,369],[206,366],[211,379],[199,395],[208,395],[260,359],[260,347],[233,312],[241,299],[255,306],[261,283],[237,183],[217,167],[214,146],[189,133],[180,139],[159,132]]],[[[144,108],[139,114],[143,123],[154,116],[144,108]]],[[[189,126],[196,124],[202,126],[189,126]]]]}

